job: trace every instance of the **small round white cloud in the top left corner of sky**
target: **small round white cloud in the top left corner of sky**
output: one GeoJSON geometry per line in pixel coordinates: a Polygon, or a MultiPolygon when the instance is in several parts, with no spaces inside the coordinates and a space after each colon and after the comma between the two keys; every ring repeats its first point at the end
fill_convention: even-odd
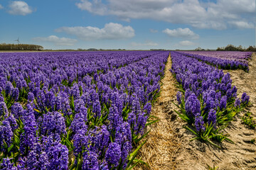
{"type": "Polygon", "coordinates": [[[28,4],[26,4],[24,1],[12,1],[9,8],[10,9],[8,12],[13,15],[26,16],[27,14],[33,12],[31,6],[28,6],[28,4]]]}

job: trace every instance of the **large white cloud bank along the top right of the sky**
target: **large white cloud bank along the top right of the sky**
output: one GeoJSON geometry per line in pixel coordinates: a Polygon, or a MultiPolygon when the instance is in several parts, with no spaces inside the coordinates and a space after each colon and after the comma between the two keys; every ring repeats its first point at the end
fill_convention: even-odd
{"type": "Polygon", "coordinates": [[[229,21],[245,20],[250,23],[255,11],[252,0],[80,0],[76,6],[96,15],[117,16],[124,21],[149,18],[217,30],[234,27],[229,21]]]}

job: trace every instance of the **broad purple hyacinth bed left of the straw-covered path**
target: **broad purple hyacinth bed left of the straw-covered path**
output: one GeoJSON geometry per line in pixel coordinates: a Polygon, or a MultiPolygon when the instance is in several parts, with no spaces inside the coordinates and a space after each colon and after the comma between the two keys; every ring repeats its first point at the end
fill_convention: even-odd
{"type": "Polygon", "coordinates": [[[0,53],[0,169],[130,169],[169,52],[0,53]]]}

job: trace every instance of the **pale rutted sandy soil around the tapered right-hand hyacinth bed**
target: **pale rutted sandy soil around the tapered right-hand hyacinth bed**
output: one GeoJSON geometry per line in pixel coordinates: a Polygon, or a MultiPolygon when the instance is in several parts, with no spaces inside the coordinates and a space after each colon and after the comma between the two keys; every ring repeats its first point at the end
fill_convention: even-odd
{"type": "MultiPolygon", "coordinates": [[[[239,96],[243,92],[250,95],[250,102],[252,103],[246,111],[250,111],[256,118],[256,55],[252,56],[252,60],[249,62],[250,72],[246,73],[242,70],[225,71],[230,72],[231,79],[233,79],[233,85],[237,86],[239,96]]],[[[175,98],[172,99],[176,102],[175,98]]],[[[182,128],[186,125],[181,118],[176,118],[176,113],[173,111],[176,109],[173,103],[169,101],[167,107],[169,111],[171,128],[178,134],[181,141],[181,146],[174,156],[174,162],[176,162],[176,169],[207,169],[207,164],[213,167],[218,166],[219,169],[256,169],[256,145],[250,141],[256,139],[256,130],[251,130],[246,125],[242,124],[241,116],[246,113],[238,113],[235,116],[235,120],[225,128],[225,132],[230,135],[230,139],[235,144],[229,142],[223,142],[218,149],[212,147],[206,143],[199,141],[189,140],[195,137],[191,132],[182,128]],[[171,113],[171,114],[170,114],[171,113]]]]}

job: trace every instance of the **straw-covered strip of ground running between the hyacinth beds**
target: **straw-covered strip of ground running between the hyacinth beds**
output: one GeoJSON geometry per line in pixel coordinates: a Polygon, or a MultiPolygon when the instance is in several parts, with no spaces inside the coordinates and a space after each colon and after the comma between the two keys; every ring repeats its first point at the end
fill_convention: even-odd
{"type": "MultiPolygon", "coordinates": [[[[155,115],[160,120],[148,128],[151,129],[147,136],[147,142],[139,152],[144,162],[149,164],[151,169],[174,169],[175,154],[180,146],[178,136],[172,128],[171,120],[169,120],[169,111],[166,107],[169,106],[171,100],[176,96],[176,80],[169,71],[171,69],[171,57],[169,56],[166,63],[164,79],[161,80],[161,96],[154,103],[151,110],[151,115],[155,115]]],[[[146,166],[140,165],[134,169],[148,169],[146,166]]]]}

